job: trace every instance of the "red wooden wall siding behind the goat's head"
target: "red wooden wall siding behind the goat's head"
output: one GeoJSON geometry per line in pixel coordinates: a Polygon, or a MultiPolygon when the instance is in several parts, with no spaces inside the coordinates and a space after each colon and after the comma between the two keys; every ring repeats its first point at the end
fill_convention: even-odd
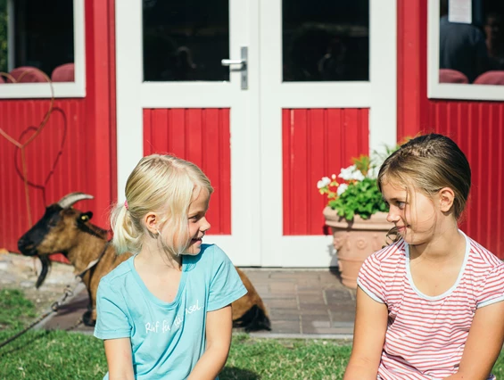
{"type": "MultiPolygon", "coordinates": [[[[100,227],[109,226],[110,205],[117,196],[114,9],[114,0],[86,2],[86,98],[56,100],[49,122],[26,148],[32,223],[47,203],[81,191],[95,199],[76,207],[93,211],[93,221],[100,227]],[[45,187],[45,200],[40,187],[45,187]]],[[[27,129],[39,124],[48,104],[48,100],[2,100],[0,128],[15,139],[23,133],[27,137],[27,129]]],[[[19,237],[30,227],[24,186],[15,169],[14,145],[0,136],[0,149],[0,248],[17,252],[19,237]]]]}

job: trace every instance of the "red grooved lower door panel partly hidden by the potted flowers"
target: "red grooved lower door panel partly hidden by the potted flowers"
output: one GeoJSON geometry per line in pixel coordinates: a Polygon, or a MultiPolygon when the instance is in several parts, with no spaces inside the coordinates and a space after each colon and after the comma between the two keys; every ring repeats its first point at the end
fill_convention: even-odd
{"type": "Polygon", "coordinates": [[[322,235],[322,177],[369,152],[368,109],[283,110],[284,235],[322,235]]]}

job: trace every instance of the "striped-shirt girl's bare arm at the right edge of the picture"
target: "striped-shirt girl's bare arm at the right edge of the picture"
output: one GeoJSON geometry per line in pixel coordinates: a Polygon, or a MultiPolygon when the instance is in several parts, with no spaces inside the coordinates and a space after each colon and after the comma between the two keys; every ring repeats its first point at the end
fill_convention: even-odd
{"type": "Polygon", "coordinates": [[[483,306],[475,312],[459,371],[446,379],[485,380],[504,342],[504,302],[483,306]]]}

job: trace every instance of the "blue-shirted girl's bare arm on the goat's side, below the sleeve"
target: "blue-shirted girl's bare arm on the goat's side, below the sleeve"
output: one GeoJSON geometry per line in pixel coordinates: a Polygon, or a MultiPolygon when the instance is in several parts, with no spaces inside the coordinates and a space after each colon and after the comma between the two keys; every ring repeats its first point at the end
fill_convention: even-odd
{"type": "Polygon", "coordinates": [[[133,359],[129,338],[106,339],[105,356],[110,380],[134,380],[133,359]]]}

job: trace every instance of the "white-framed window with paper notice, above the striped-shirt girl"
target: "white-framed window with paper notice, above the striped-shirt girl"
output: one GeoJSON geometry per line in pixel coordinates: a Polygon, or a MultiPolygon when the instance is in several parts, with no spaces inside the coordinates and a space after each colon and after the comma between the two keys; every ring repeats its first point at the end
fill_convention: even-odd
{"type": "Polygon", "coordinates": [[[428,95],[504,100],[504,2],[430,0],[428,95]]]}

